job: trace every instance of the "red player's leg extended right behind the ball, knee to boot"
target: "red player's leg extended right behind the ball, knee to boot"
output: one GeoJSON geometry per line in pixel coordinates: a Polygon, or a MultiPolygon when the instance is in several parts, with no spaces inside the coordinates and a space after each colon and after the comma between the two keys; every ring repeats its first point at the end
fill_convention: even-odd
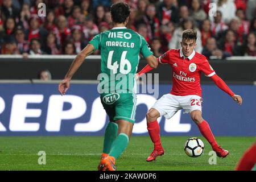
{"type": "Polygon", "coordinates": [[[190,114],[193,121],[195,121],[195,123],[199,127],[201,134],[210,143],[212,149],[216,152],[217,156],[220,158],[225,158],[229,154],[229,151],[224,150],[221,146],[218,145],[213,136],[212,130],[210,130],[208,122],[202,118],[201,111],[193,110],[190,114]]]}

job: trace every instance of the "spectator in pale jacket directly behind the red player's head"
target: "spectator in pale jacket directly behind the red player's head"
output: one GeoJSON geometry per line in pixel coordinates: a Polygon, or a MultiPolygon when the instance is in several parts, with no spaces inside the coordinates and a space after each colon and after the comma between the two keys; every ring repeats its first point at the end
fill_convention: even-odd
{"type": "Polygon", "coordinates": [[[203,50],[201,32],[198,28],[195,27],[193,19],[191,18],[184,19],[183,22],[181,23],[181,26],[175,29],[174,35],[172,36],[172,39],[169,42],[169,49],[179,49],[181,47],[180,42],[182,39],[182,32],[186,29],[193,29],[197,31],[195,51],[201,53],[203,50]]]}

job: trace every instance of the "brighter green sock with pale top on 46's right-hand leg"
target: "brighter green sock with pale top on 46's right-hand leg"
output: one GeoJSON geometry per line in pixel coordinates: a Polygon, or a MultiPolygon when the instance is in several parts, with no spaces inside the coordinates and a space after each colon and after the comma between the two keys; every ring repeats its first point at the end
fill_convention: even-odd
{"type": "Polygon", "coordinates": [[[125,151],[129,142],[129,137],[125,133],[120,133],[117,139],[114,140],[109,156],[114,156],[115,159],[125,151]]]}

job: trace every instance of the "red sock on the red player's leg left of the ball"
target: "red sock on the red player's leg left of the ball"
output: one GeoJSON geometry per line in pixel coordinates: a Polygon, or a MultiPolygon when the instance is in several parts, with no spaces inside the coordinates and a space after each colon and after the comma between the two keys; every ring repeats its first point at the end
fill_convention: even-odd
{"type": "Polygon", "coordinates": [[[147,122],[147,130],[152,142],[154,143],[155,150],[162,150],[163,147],[160,140],[160,127],[158,121],[150,123],[147,122]]]}

